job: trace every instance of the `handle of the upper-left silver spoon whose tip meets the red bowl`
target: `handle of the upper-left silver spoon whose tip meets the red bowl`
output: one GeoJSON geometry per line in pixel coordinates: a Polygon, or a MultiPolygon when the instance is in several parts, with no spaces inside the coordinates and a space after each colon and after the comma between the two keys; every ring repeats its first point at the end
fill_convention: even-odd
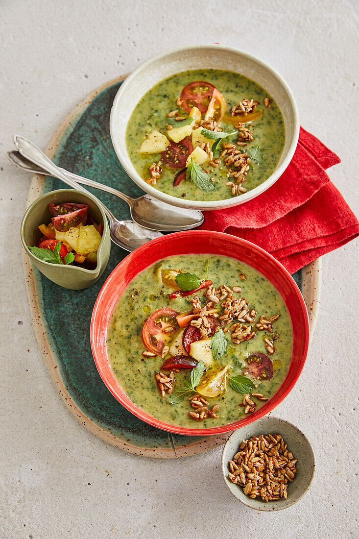
{"type": "MultiPolygon", "coordinates": [[[[20,154],[23,155],[26,159],[29,161],[32,161],[33,163],[37,164],[38,167],[42,167],[47,172],[50,172],[52,176],[55,176],[56,178],[61,179],[64,183],[67,185],[70,185],[73,189],[77,189],[78,191],[82,191],[86,195],[91,195],[87,189],[82,187],[82,185],[75,182],[73,179],[68,178],[67,175],[64,174],[62,169],[57,167],[56,164],[54,164],[49,157],[47,157],[37,146],[35,146],[32,142],[30,142],[27,139],[24,139],[24,137],[19,135],[13,136],[13,141],[15,143],[16,148],[19,150],[20,154]]],[[[101,205],[101,208],[106,213],[107,217],[109,218],[110,222],[113,222],[115,219],[114,215],[111,211],[109,211],[108,208],[104,204],[102,204],[101,201],[98,199],[98,204],[101,205]]]]}

